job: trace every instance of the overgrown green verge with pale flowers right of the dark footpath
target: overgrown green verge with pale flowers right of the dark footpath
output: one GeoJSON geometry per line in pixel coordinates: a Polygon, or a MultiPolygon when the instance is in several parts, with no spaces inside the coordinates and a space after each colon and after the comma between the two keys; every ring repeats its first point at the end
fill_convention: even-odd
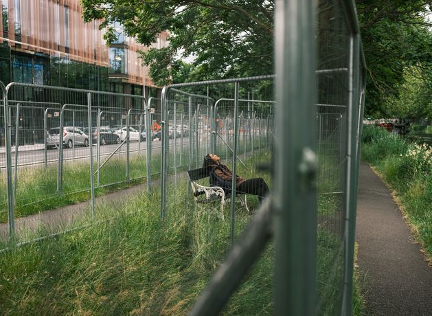
{"type": "Polygon", "coordinates": [[[432,148],[409,144],[375,126],[364,126],[362,146],[362,158],[394,190],[413,234],[432,262],[432,148]]]}

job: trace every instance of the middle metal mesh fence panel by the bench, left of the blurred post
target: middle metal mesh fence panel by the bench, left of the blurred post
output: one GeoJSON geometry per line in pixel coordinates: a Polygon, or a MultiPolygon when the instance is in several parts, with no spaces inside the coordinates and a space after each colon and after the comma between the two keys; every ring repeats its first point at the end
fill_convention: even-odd
{"type": "MultiPolygon", "coordinates": [[[[253,168],[246,166],[244,160],[262,154],[263,150],[271,150],[275,139],[273,80],[274,76],[260,76],[173,84],[163,89],[162,122],[176,126],[179,113],[188,117],[190,146],[187,152],[182,152],[182,148],[170,146],[168,149],[168,142],[163,142],[162,217],[168,210],[175,209],[174,205],[178,203],[177,199],[169,199],[168,191],[171,190],[168,186],[187,188],[188,179],[181,170],[201,168],[207,154],[216,154],[221,158],[220,163],[232,166],[233,179],[236,179],[238,163],[243,168],[253,168]],[[181,163],[176,157],[183,157],[181,163]]],[[[170,139],[169,129],[165,128],[163,133],[166,133],[163,139],[170,139]]],[[[264,174],[262,172],[261,177],[265,177],[264,174]]],[[[203,184],[209,185],[209,179],[205,179],[203,184]]],[[[254,190],[251,188],[252,192],[254,190]]],[[[236,201],[236,188],[228,191],[231,192],[231,201],[236,201]]],[[[194,204],[187,205],[196,207],[194,204]]],[[[214,208],[218,210],[218,203],[214,208]]],[[[234,240],[235,210],[236,203],[231,203],[231,241],[234,240]]]]}

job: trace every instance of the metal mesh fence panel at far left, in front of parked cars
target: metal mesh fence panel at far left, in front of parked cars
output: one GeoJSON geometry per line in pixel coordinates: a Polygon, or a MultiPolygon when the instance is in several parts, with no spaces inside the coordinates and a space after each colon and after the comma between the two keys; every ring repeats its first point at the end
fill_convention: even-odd
{"type": "Polygon", "coordinates": [[[95,190],[146,179],[151,188],[161,142],[146,128],[157,114],[144,97],[16,82],[1,91],[0,218],[10,236],[20,240],[17,217],[59,200],[75,203],[91,192],[93,212],[95,190]]]}

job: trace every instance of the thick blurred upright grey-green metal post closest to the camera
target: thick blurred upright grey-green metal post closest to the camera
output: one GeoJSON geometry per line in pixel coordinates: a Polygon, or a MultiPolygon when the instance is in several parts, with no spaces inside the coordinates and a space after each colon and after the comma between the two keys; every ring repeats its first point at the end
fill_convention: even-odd
{"type": "Polygon", "coordinates": [[[275,8],[276,315],[317,314],[314,8],[313,0],[277,0],[275,8]]]}

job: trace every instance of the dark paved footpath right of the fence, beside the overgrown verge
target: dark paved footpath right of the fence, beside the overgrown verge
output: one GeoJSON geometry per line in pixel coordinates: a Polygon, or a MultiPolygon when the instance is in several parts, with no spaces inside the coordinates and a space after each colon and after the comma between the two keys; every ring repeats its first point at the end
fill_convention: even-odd
{"type": "Polygon", "coordinates": [[[365,163],[359,174],[356,242],[366,315],[432,315],[432,267],[389,190],[365,163]]]}

